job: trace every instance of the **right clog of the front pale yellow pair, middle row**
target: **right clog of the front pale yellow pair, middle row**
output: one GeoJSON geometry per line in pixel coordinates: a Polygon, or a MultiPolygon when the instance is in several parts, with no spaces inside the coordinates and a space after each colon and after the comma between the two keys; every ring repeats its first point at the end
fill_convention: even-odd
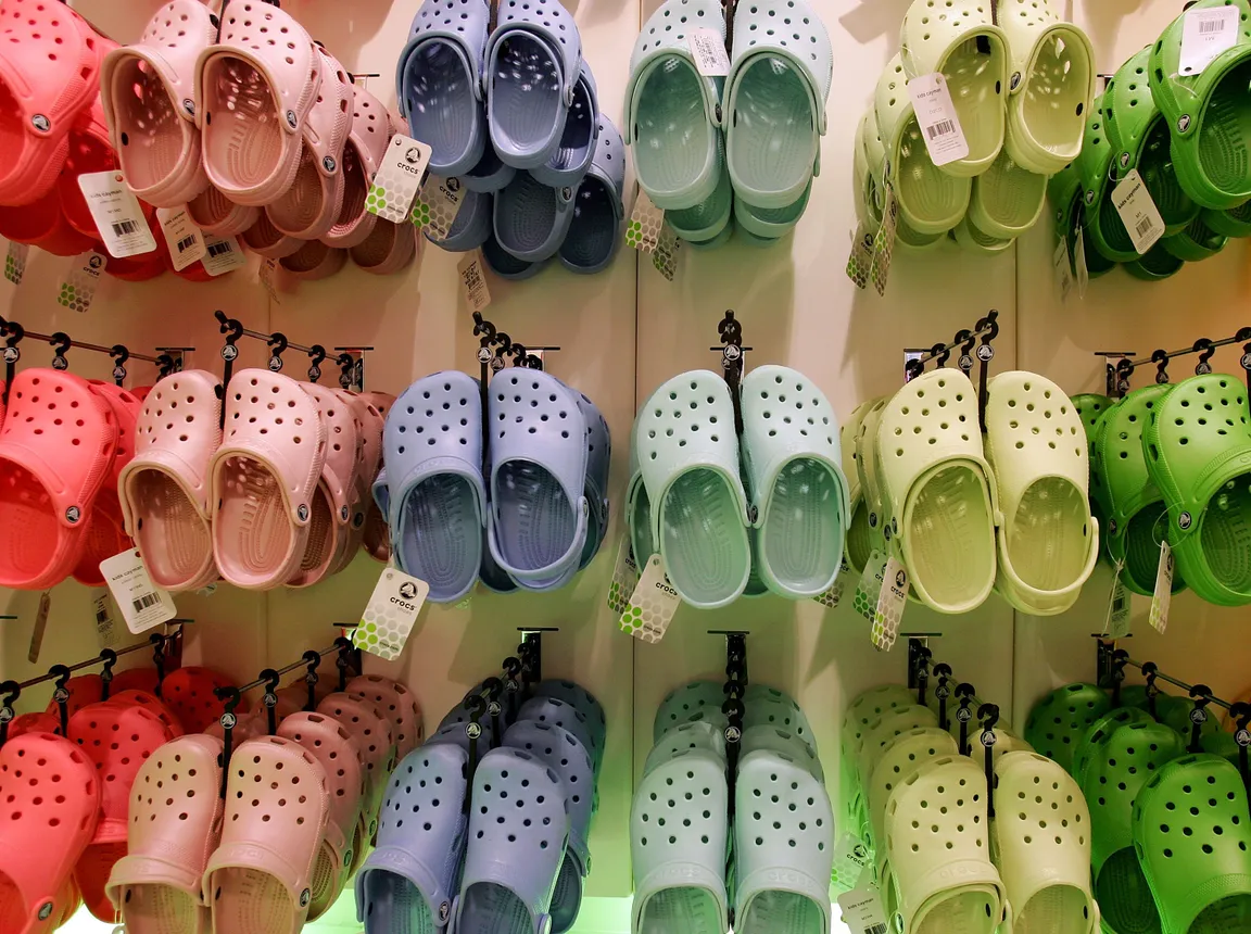
{"type": "Polygon", "coordinates": [[[1081,416],[1033,373],[1001,373],[986,391],[986,460],[1003,510],[996,583],[1025,613],[1063,613],[1098,559],[1081,416]]]}

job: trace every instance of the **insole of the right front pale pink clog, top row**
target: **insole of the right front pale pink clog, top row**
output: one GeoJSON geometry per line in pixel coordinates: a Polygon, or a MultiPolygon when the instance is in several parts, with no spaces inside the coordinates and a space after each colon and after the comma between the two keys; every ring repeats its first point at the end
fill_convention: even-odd
{"type": "Polygon", "coordinates": [[[216,58],[205,78],[204,161],[218,166],[233,185],[255,188],[283,161],[285,140],[274,93],[243,59],[216,58]]]}

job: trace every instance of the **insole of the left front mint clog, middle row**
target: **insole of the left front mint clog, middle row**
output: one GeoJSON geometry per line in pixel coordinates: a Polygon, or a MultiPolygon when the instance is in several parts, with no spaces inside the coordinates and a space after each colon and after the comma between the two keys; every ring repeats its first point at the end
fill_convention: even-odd
{"type": "Polygon", "coordinates": [[[674,588],[696,603],[733,595],[751,569],[738,499],[726,478],[698,468],[682,474],[661,503],[664,564],[674,588]]]}

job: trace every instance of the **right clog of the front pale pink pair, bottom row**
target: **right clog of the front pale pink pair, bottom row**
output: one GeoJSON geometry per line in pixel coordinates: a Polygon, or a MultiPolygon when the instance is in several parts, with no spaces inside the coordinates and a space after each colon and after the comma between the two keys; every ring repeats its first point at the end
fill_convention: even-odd
{"type": "Polygon", "coordinates": [[[204,870],[214,931],[303,926],[328,814],[325,769],[298,743],[265,736],[234,750],[221,843],[204,870]]]}

